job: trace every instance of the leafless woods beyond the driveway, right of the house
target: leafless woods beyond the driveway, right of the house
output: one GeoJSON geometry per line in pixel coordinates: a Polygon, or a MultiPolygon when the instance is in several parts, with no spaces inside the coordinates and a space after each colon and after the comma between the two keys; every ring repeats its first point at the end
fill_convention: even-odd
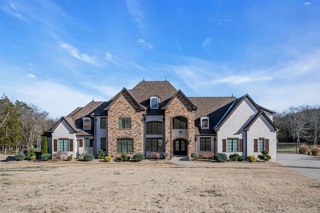
{"type": "Polygon", "coordinates": [[[317,145],[320,142],[320,107],[302,105],[275,113],[274,124],[279,128],[278,142],[317,145]]]}

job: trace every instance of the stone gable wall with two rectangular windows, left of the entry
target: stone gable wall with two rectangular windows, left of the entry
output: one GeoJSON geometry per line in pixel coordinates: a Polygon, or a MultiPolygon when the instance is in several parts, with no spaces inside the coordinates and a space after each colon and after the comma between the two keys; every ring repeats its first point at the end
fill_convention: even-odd
{"type": "Polygon", "coordinates": [[[119,157],[121,154],[132,156],[143,153],[142,112],[134,100],[125,92],[117,98],[108,111],[108,156],[119,157]],[[131,118],[131,129],[119,129],[119,118],[131,118]],[[133,139],[133,154],[116,153],[116,140],[133,139]]]}

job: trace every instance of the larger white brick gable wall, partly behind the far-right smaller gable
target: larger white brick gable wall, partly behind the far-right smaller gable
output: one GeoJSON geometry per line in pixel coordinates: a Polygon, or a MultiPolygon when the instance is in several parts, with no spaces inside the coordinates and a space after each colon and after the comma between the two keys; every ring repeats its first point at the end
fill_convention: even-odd
{"type": "Polygon", "coordinates": [[[254,107],[254,105],[247,98],[245,98],[244,101],[240,103],[240,105],[220,127],[220,130],[217,131],[216,153],[222,152],[222,139],[238,138],[243,140],[243,152],[225,152],[225,154],[229,157],[230,154],[237,153],[245,158],[246,134],[243,129],[257,112],[258,110],[254,107]]]}

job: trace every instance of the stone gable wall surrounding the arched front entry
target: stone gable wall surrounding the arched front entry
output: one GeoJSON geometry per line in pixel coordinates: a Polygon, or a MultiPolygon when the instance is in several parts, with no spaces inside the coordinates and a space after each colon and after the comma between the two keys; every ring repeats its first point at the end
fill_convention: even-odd
{"type": "MultiPolygon", "coordinates": [[[[194,152],[194,110],[184,96],[179,93],[165,110],[165,152],[168,152],[170,158],[173,156],[173,138],[172,135],[172,119],[176,116],[183,116],[187,118],[187,136],[184,138],[187,141],[187,156],[191,158],[191,153],[194,152]],[[189,141],[192,140],[192,143],[189,141]]],[[[181,138],[181,137],[179,137],[181,138]]]]}

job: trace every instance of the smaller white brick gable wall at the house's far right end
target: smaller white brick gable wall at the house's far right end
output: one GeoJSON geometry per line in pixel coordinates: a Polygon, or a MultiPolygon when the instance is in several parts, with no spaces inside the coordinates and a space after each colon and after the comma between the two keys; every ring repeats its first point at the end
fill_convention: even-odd
{"type": "Polygon", "coordinates": [[[269,139],[269,155],[272,161],[276,161],[276,132],[272,125],[260,115],[247,131],[247,155],[253,155],[256,158],[261,152],[254,152],[254,139],[269,139]]]}

